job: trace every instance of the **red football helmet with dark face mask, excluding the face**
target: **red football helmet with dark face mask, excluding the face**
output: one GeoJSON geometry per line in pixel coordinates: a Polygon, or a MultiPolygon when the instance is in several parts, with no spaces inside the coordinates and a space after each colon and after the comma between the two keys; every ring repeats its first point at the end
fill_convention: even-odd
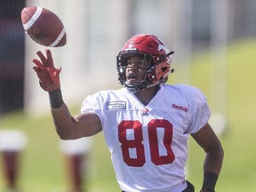
{"type": "Polygon", "coordinates": [[[120,84],[123,84],[131,92],[141,92],[156,84],[165,83],[173,71],[173,69],[171,70],[172,53],[157,36],[147,34],[132,36],[117,55],[116,68],[120,84]],[[148,57],[150,68],[142,81],[128,84],[125,76],[126,60],[134,55],[148,57]]]}

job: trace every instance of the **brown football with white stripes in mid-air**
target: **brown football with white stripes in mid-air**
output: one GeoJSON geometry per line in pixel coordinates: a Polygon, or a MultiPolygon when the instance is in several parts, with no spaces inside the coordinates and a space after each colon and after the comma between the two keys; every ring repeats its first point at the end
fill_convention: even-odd
{"type": "Polygon", "coordinates": [[[60,18],[53,12],[36,6],[21,11],[21,22],[25,33],[37,44],[60,47],[67,43],[67,35],[60,18]]]}

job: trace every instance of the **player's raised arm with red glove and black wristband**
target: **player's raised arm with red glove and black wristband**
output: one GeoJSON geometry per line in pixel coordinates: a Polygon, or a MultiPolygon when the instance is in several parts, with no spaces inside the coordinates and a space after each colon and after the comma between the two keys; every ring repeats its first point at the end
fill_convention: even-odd
{"type": "Polygon", "coordinates": [[[54,67],[50,50],[46,50],[46,57],[44,57],[42,52],[37,52],[37,55],[41,61],[33,60],[36,64],[34,70],[39,78],[40,86],[44,91],[49,92],[52,118],[60,138],[72,140],[100,132],[100,118],[97,115],[84,113],[71,116],[61,95],[61,68],[54,67]]]}

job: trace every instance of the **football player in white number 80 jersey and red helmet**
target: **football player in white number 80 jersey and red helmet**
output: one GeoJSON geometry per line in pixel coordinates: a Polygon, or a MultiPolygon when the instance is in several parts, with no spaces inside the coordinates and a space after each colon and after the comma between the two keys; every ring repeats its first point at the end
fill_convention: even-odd
{"type": "Polygon", "coordinates": [[[85,98],[81,114],[71,116],[60,91],[60,68],[52,54],[33,60],[62,140],[103,132],[122,191],[195,191],[185,179],[190,134],[205,151],[202,192],[214,191],[223,150],[208,124],[210,109],[195,87],[165,84],[173,72],[166,45],[156,36],[132,36],[116,57],[119,90],[85,98]]]}

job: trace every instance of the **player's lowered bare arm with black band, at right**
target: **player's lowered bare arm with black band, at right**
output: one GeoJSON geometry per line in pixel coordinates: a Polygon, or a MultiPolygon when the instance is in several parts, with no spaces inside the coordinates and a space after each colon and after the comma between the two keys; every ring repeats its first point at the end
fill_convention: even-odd
{"type": "Polygon", "coordinates": [[[224,157],[220,140],[212,131],[210,124],[205,124],[198,132],[191,135],[204,148],[206,153],[204,158],[204,183],[201,191],[213,192],[224,157]]]}

